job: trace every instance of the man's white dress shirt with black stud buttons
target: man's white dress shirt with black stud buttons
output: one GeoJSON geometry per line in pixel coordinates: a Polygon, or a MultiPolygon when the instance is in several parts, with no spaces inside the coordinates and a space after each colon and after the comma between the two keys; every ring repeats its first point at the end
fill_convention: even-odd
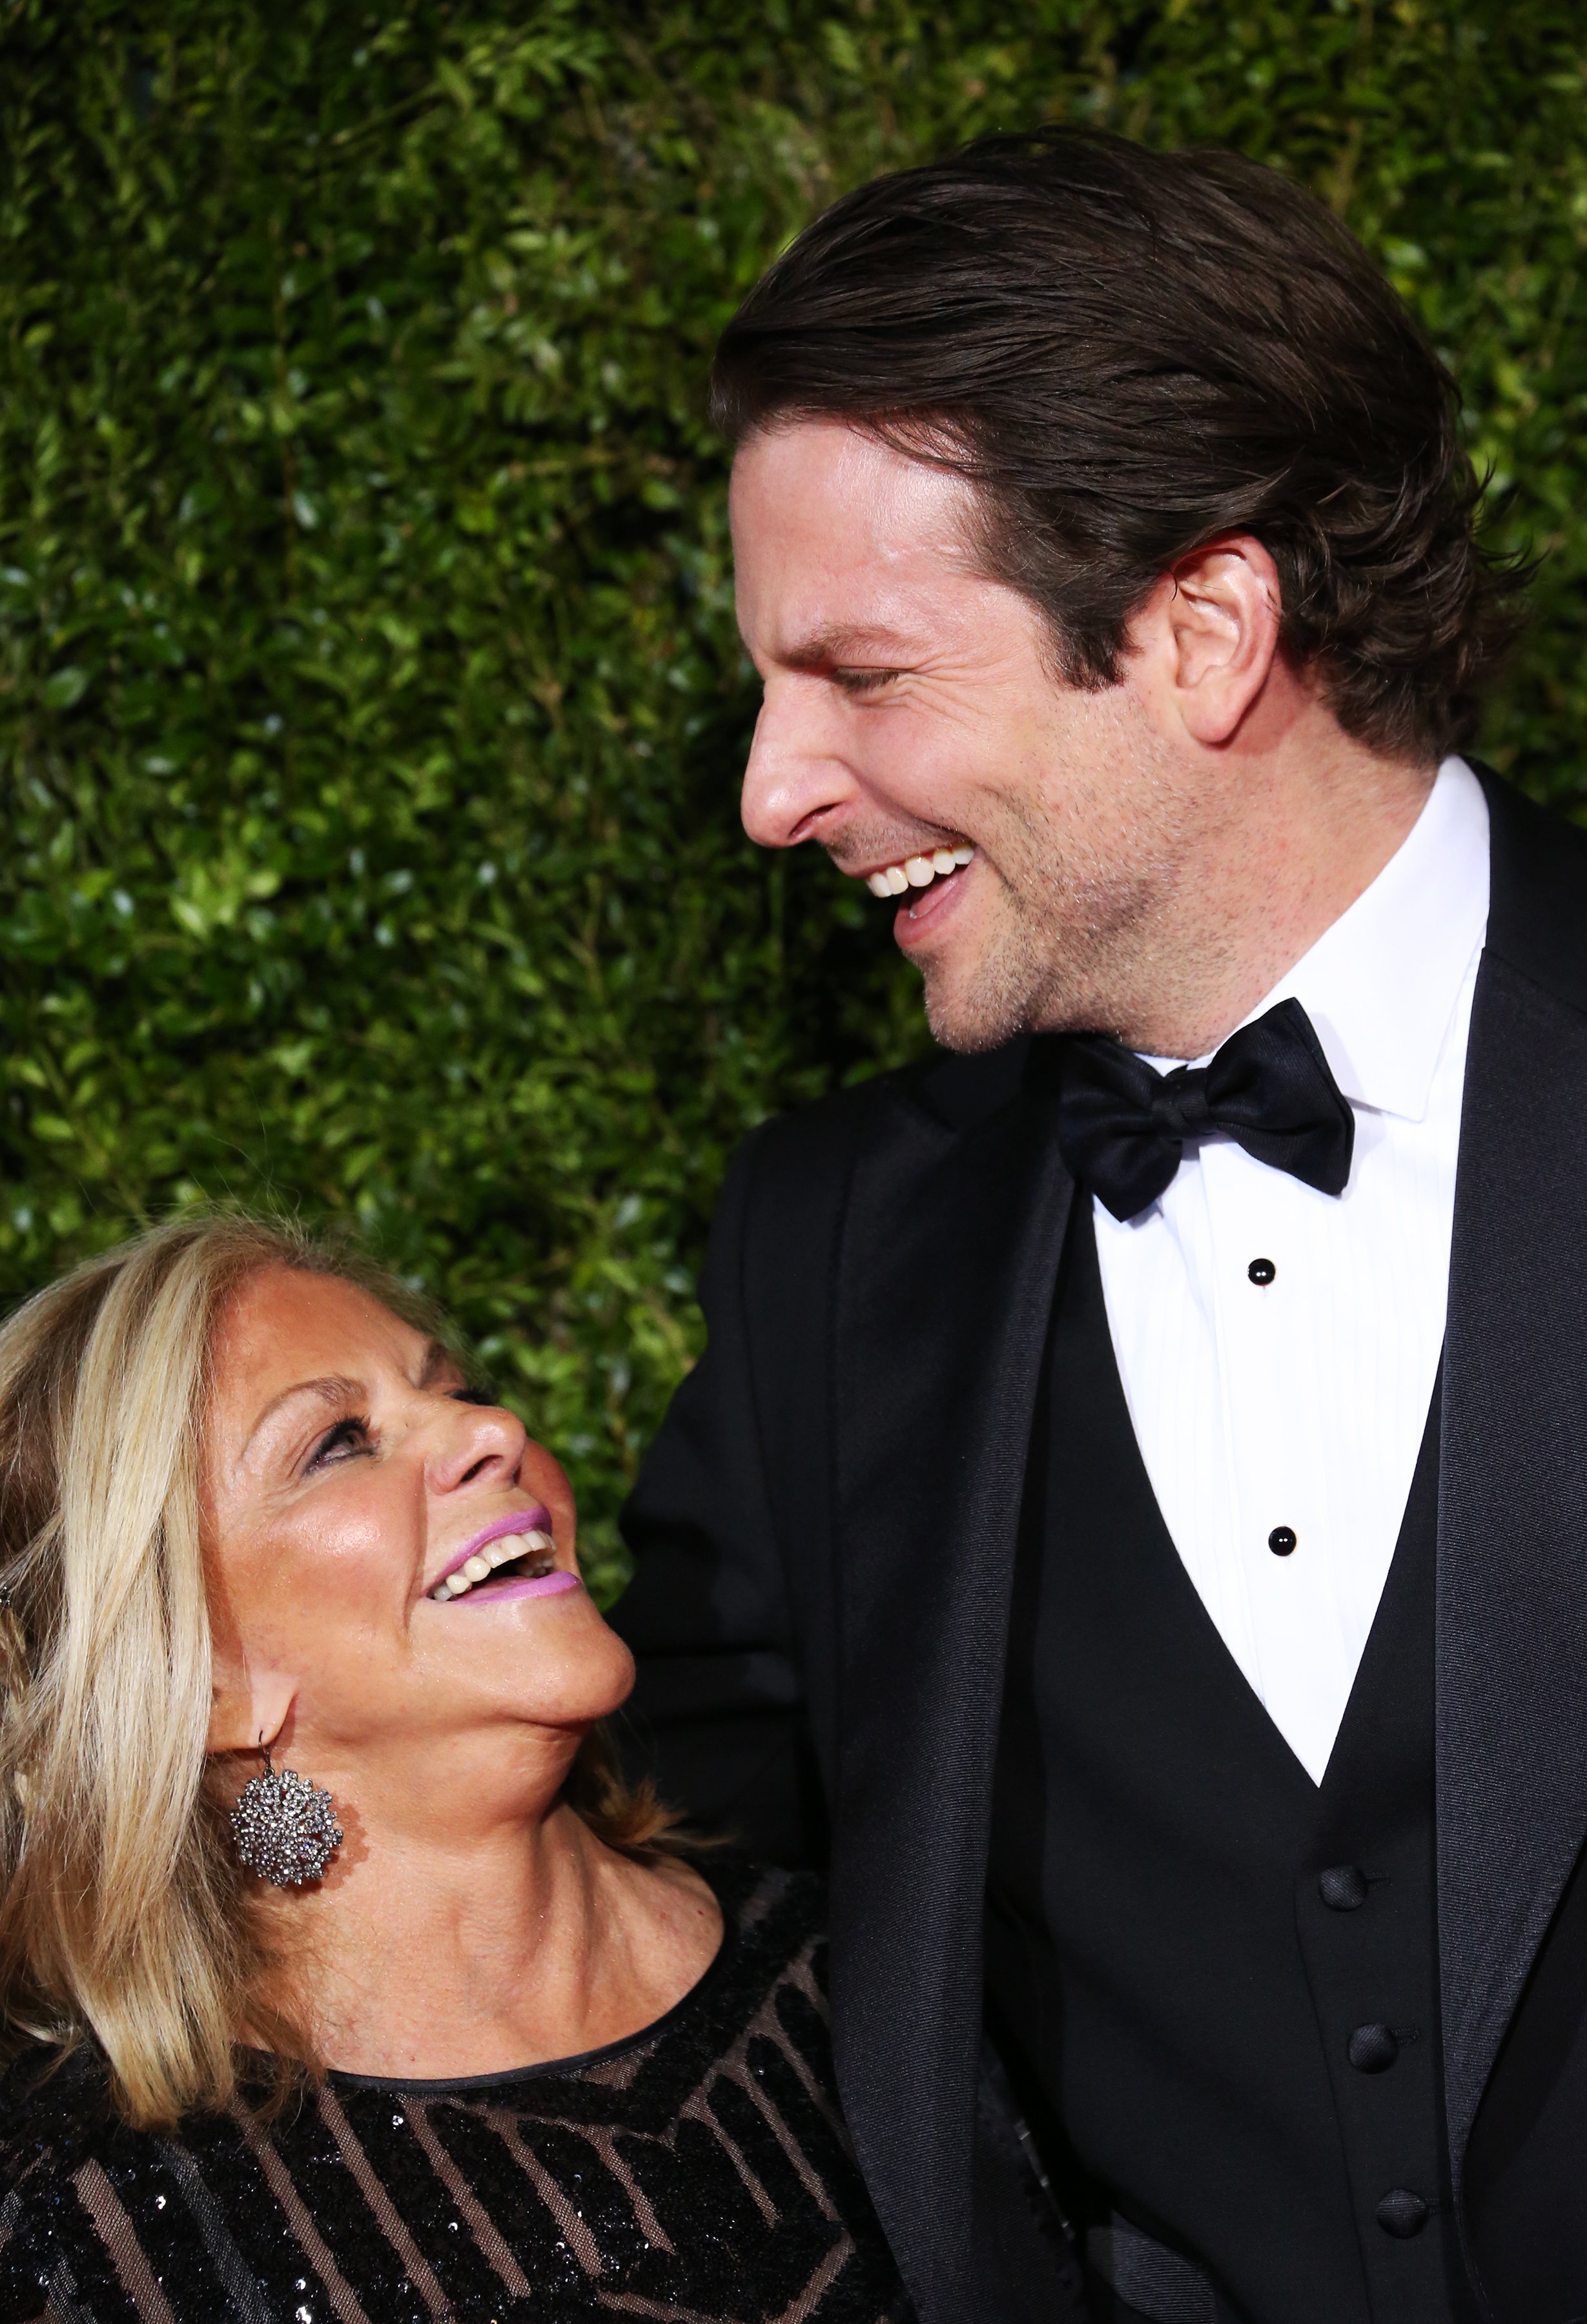
{"type": "Polygon", "coordinates": [[[1485,930],[1487,802],[1450,758],[1399,853],[1250,1011],[1290,995],[1306,1009],[1355,1113],[1345,1192],[1208,1136],[1139,1218],[1094,1204],[1157,1506],[1313,1783],[1383,1597],[1438,1371],[1485,930]],[[1271,1283],[1252,1281],[1255,1260],[1271,1283]],[[1294,1548],[1278,1555],[1269,1538],[1283,1545],[1285,1527],[1294,1548]]]}

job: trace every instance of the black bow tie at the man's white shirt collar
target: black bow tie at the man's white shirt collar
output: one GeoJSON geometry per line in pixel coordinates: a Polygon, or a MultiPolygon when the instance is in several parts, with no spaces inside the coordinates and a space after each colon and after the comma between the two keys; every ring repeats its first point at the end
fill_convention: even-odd
{"type": "Polygon", "coordinates": [[[1355,1116],[1299,1002],[1241,1025],[1208,1064],[1159,1074],[1101,1032],[1069,1034],[1057,1055],[1057,1143],[1113,1218],[1134,1218],[1171,1185],[1185,1139],[1222,1129],[1257,1162],[1343,1195],[1355,1116]]]}

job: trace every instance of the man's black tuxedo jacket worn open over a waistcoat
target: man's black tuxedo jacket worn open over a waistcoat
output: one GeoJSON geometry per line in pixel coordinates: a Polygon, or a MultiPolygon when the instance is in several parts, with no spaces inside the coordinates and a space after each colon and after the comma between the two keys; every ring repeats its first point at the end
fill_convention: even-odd
{"type": "MultiPolygon", "coordinates": [[[[1489,781],[1443,1360],[1438,1961],[1499,2324],[1587,2317],[1587,839],[1489,781]]],[[[709,1353],[627,1511],[665,1787],[825,1859],[839,2082],[925,2324],[978,2273],[981,1920],[1008,1590],[1073,1185],[1029,1043],[760,1129],[709,1353]]]]}

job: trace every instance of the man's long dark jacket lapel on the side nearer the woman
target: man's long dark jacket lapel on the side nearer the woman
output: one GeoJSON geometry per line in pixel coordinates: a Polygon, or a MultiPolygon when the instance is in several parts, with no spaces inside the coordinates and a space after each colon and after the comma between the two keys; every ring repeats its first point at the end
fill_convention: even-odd
{"type": "Polygon", "coordinates": [[[957,1134],[899,1109],[836,1304],[832,1989],[878,2212],[925,2324],[962,2324],[992,1755],[1071,1183],[1039,1074],[957,1134]]]}

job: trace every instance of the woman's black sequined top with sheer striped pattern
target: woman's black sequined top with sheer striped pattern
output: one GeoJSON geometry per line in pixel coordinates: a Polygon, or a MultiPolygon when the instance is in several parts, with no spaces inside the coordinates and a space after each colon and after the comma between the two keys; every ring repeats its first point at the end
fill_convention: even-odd
{"type": "Polygon", "coordinates": [[[0,2082],[0,2324],[909,2324],[836,2108],[820,1889],[711,1866],[725,1941],[644,2033],[520,2073],[332,2073],[274,2122],[0,2082]]]}

